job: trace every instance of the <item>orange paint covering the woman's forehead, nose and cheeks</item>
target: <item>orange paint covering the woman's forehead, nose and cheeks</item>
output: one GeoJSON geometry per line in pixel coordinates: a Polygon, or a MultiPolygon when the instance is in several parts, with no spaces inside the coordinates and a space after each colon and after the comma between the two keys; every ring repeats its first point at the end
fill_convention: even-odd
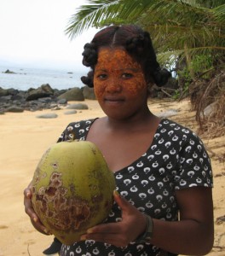
{"type": "Polygon", "coordinates": [[[103,48],[95,65],[94,89],[98,100],[106,93],[136,97],[147,84],[141,65],[124,49],[103,48]]]}

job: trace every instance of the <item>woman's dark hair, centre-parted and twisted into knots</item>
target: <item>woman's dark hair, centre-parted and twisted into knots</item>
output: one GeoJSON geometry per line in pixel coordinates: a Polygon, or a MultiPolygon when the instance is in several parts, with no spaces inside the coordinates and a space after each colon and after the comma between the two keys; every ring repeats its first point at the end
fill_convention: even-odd
{"type": "Polygon", "coordinates": [[[95,64],[101,47],[123,47],[135,61],[141,64],[147,84],[155,83],[162,86],[170,77],[167,69],[159,67],[148,32],[134,25],[108,26],[97,32],[90,43],[84,45],[83,64],[90,67],[91,71],[81,80],[89,87],[94,86],[95,64]]]}

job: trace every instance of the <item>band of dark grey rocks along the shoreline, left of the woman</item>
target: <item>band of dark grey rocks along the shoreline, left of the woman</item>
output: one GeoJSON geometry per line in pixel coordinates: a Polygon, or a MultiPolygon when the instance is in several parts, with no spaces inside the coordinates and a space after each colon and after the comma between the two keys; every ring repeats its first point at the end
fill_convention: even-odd
{"type": "MultiPolygon", "coordinates": [[[[66,107],[68,101],[83,102],[86,98],[95,99],[93,88],[74,87],[68,90],[52,89],[49,84],[42,84],[38,89],[15,90],[0,87],[0,113],[38,111],[43,109],[57,110],[66,107]],[[87,94],[88,91],[88,94],[87,94]]],[[[75,109],[75,108],[72,108],[75,109]]],[[[78,105],[77,109],[87,109],[78,105]]]]}

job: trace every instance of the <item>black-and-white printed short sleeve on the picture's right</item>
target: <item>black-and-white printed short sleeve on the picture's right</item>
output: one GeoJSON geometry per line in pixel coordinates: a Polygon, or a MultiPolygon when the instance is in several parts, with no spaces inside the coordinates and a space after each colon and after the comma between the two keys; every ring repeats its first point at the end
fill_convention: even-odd
{"type": "Polygon", "coordinates": [[[195,133],[191,132],[187,141],[181,145],[179,156],[175,189],[213,186],[210,157],[195,133]]]}

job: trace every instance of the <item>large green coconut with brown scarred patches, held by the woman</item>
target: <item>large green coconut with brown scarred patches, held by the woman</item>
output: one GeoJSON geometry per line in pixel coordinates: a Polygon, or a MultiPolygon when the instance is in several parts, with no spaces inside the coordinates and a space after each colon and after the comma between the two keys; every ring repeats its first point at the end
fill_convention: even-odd
{"type": "Polygon", "coordinates": [[[106,220],[114,189],[113,172],[94,143],[55,143],[34,172],[32,206],[43,225],[71,245],[106,220]]]}

